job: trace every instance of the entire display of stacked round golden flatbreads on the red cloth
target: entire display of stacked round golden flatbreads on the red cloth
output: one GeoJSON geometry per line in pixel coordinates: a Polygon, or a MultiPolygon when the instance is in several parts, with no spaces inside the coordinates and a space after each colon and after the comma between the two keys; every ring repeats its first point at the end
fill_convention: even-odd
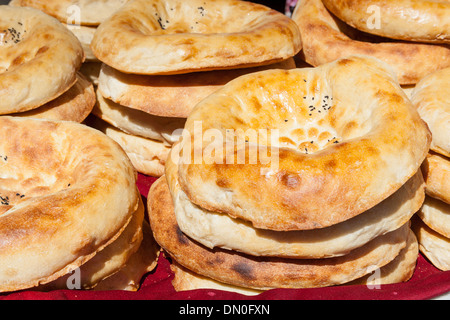
{"type": "Polygon", "coordinates": [[[449,270],[450,4],[408,5],[0,6],[0,291],[137,290],[160,249],[176,290],[449,270]]]}

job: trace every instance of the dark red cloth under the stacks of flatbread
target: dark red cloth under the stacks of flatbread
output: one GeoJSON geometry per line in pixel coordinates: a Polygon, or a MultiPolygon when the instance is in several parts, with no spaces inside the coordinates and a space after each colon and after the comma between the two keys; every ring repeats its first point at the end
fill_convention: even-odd
{"type": "MultiPolygon", "coordinates": [[[[156,179],[139,175],[138,188],[144,200],[156,179]]],[[[245,296],[219,290],[175,292],[171,280],[170,262],[160,256],[158,266],[144,276],[137,292],[57,290],[36,292],[26,290],[1,294],[2,300],[422,300],[450,291],[450,271],[440,271],[422,255],[413,277],[405,283],[382,285],[369,289],[364,285],[313,289],[274,289],[256,296],[245,296]]]]}

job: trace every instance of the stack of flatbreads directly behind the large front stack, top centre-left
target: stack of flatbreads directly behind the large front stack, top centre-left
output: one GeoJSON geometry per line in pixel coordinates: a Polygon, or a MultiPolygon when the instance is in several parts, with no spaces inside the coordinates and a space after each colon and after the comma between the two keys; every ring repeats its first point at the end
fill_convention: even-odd
{"type": "Polygon", "coordinates": [[[260,5],[136,0],[100,25],[91,48],[103,62],[93,126],[121,144],[139,172],[161,176],[197,102],[256,66],[295,67],[292,57],[301,41],[292,21],[260,5]],[[279,20],[276,25],[264,20],[271,15],[279,20]],[[267,30],[272,36],[262,41],[271,47],[266,54],[254,34],[267,30]],[[240,44],[257,49],[242,52],[240,44]],[[205,56],[210,64],[204,65],[205,56]]]}

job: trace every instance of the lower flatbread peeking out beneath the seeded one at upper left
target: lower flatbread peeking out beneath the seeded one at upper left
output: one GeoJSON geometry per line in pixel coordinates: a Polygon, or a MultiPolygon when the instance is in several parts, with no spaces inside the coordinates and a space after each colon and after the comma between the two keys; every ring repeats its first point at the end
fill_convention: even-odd
{"type": "Polygon", "coordinates": [[[95,101],[94,86],[78,73],[77,82],[55,100],[47,102],[39,108],[10,114],[10,116],[81,123],[91,113],[95,101]]]}

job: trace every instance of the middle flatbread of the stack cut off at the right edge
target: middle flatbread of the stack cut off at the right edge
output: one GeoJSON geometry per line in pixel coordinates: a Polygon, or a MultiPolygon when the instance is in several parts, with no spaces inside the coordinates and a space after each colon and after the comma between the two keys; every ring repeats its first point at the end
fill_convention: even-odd
{"type": "Polygon", "coordinates": [[[422,164],[426,193],[450,204],[450,159],[430,152],[422,164]]]}

